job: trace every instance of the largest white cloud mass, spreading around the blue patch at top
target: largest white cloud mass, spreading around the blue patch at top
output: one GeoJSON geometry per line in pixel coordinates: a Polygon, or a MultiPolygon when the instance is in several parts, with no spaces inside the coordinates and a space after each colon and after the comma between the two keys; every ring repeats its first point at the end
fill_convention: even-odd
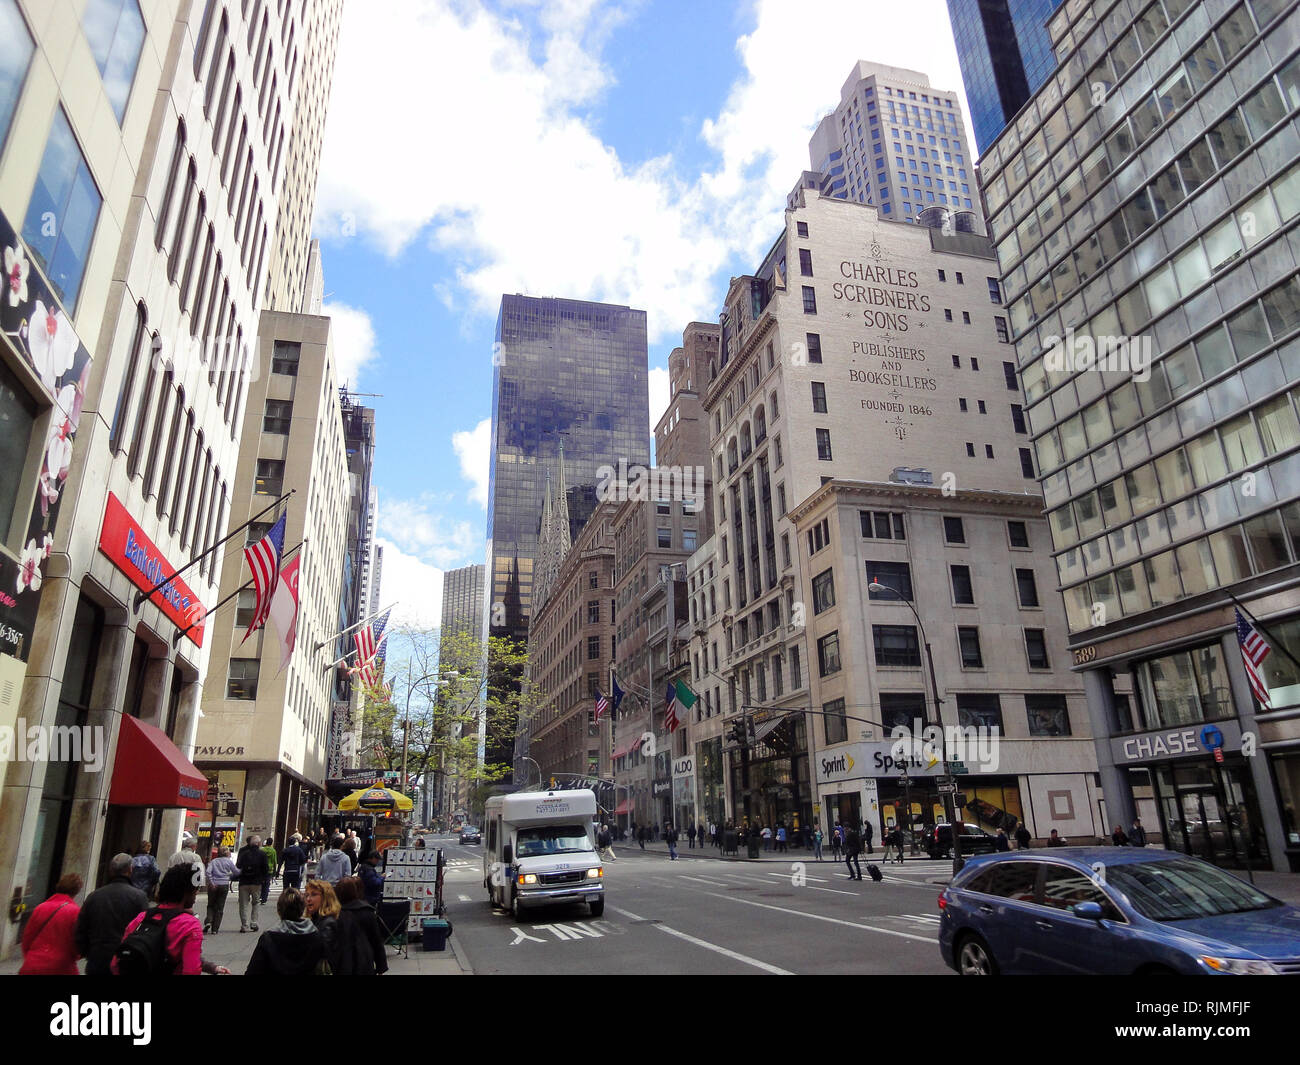
{"type": "Polygon", "coordinates": [[[504,14],[408,0],[382,18],[347,5],[320,233],[355,225],[391,256],[432,241],[456,264],[437,298],[467,315],[494,315],[502,293],[628,303],[654,343],[716,316],[736,256],[757,265],[858,59],[961,86],[944,0],[757,0],[742,74],[698,131],[707,172],[629,165],[586,117],[614,81],[602,48],[624,16],[601,0],[507,0],[504,14]]]}

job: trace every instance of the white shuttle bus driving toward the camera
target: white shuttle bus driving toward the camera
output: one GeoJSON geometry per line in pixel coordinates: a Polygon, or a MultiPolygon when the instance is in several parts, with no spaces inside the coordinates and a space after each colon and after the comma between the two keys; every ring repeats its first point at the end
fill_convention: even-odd
{"type": "Polygon", "coordinates": [[[586,902],[604,913],[604,866],[595,849],[595,793],[516,792],[488,800],[484,887],[494,905],[523,910],[586,902]]]}

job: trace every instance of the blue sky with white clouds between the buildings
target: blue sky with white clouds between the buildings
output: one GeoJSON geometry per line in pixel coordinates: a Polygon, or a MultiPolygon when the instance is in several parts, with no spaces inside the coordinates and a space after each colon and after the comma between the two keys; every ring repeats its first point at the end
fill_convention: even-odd
{"type": "Polygon", "coordinates": [[[443,571],[485,557],[502,294],[644,308],[649,436],[859,59],[961,91],[945,0],[344,5],[315,234],[341,377],[374,394],[399,623],[436,625],[443,571]]]}

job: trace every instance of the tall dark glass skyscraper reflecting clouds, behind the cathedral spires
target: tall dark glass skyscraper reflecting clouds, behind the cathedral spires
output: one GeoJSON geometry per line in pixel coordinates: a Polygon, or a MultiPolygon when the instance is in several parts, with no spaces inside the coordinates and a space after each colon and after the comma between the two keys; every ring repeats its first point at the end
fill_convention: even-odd
{"type": "Polygon", "coordinates": [[[546,481],[558,484],[560,447],[572,540],[595,508],[602,466],[650,464],[646,312],[507,295],[495,352],[489,629],[525,638],[546,481]]]}

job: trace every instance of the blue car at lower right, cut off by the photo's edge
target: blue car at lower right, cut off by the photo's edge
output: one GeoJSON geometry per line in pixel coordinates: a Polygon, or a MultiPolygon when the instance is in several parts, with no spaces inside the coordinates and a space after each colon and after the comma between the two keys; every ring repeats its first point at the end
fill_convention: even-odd
{"type": "Polygon", "coordinates": [[[963,975],[1300,974],[1300,910],[1173,850],[972,858],[939,908],[940,951],[963,975]]]}

